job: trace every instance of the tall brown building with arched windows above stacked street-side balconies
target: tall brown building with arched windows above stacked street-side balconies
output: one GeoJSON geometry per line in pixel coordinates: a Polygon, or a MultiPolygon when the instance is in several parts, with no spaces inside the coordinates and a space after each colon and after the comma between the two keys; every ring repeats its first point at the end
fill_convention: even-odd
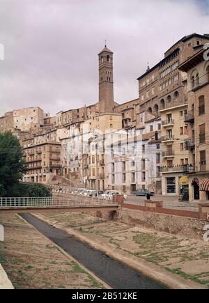
{"type": "Polygon", "coordinates": [[[194,33],[185,36],[164,54],[160,63],[148,68],[138,78],[140,105],[137,123],[141,125],[142,111],[148,113],[148,120],[150,116],[160,116],[162,120],[161,171],[164,195],[180,195],[180,179],[189,173],[189,153],[184,146],[184,140],[188,137],[188,127],[184,121],[187,113],[187,75],[178,70],[178,66],[199,52],[208,40],[208,35],[194,33]]]}

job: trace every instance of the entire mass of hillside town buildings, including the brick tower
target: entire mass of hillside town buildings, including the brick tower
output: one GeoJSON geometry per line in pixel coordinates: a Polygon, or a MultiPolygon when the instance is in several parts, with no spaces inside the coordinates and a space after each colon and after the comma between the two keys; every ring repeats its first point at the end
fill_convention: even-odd
{"type": "Polygon", "coordinates": [[[105,45],[98,102],[54,117],[39,107],[0,117],[0,131],[24,148],[24,181],[209,199],[207,42],[208,34],[180,39],[137,79],[139,98],[123,104],[114,101],[114,53],[105,45]]]}

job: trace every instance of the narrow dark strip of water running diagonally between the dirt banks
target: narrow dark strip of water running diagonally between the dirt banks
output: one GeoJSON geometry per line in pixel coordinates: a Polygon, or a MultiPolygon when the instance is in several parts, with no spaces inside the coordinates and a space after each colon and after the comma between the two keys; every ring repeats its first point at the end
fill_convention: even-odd
{"type": "Polygon", "coordinates": [[[164,289],[160,283],[149,279],[132,268],[115,261],[88,244],[80,242],[65,231],[50,226],[30,214],[20,214],[42,235],[61,247],[88,270],[114,289],[164,289]]]}

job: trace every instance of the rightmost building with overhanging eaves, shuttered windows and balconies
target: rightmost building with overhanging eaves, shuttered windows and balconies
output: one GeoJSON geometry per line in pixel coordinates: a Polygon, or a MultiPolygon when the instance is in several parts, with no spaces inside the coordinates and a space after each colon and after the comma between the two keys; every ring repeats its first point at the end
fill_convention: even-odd
{"type": "Polygon", "coordinates": [[[187,72],[188,111],[185,123],[189,135],[185,148],[189,150],[189,200],[209,200],[209,58],[206,49],[180,65],[187,72]]]}

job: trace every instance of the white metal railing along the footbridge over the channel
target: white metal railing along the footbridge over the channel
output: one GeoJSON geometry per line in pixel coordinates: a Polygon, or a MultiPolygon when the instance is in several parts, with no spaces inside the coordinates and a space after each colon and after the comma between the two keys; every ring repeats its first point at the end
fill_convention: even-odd
{"type": "Polygon", "coordinates": [[[70,198],[42,197],[42,198],[0,198],[2,208],[62,208],[62,207],[98,207],[117,206],[118,203],[105,199],[90,198],[85,196],[72,196],[70,198]]]}

